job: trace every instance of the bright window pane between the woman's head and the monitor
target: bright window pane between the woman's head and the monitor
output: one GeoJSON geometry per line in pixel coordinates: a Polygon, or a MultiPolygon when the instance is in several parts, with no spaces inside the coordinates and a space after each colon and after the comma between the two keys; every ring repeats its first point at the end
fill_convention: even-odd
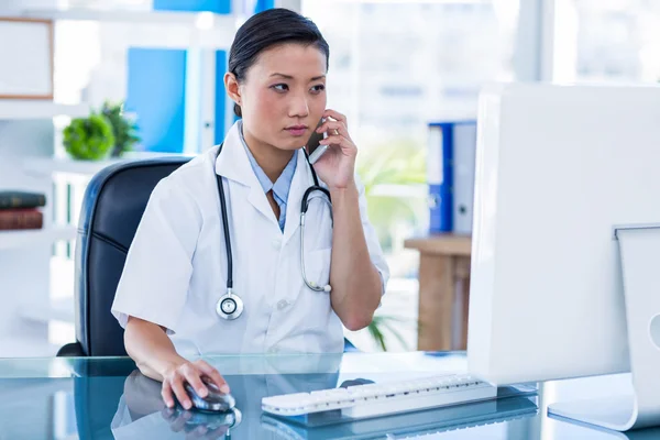
{"type": "MultiPolygon", "coordinates": [[[[421,174],[424,184],[427,124],[474,118],[480,87],[514,78],[517,13],[518,0],[302,1],[330,45],[328,106],[348,117],[361,176],[397,189],[404,175],[421,174]],[[377,166],[392,182],[377,177],[377,166]]],[[[411,275],[416,255],[403,241],[427,230],[427,189],[370,189],[393,276],[411,275]]]]}

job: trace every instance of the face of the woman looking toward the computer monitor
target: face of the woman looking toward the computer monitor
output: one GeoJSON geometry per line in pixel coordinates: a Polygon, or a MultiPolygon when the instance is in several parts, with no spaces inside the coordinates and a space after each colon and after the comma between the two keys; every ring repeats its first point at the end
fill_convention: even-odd
{"type": "Polygon", "coordinates": [[[326,55],[316,46],[284,44],[262,52],[241,84],[228,74],[226,86],[241,106],[249,144],[305,145],[326,110],[326,55]]]}

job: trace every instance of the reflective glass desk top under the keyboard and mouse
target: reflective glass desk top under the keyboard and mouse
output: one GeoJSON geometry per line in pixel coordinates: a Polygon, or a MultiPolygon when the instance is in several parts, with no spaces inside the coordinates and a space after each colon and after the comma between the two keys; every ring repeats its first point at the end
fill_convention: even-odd
{"type": "Polygon", "coordinates": [[[261,399],[340,386],[464,372],[465,353],[343,353],[205,358],[227,378],[240,414],[167,409],[161,384],[128,358],[0,359],[0,439],[660,439],[660,430],[602,431],[547,416],[565,399],[629,389],[629,375],[502,388],[497,400],[342,421],[294,422],[261,399]]]}

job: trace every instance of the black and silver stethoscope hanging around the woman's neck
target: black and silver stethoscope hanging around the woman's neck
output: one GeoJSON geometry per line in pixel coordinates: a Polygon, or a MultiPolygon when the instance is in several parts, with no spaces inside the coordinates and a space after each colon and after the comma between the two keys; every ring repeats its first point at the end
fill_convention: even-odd
{"type": "MultiPolygon", "coordinates": [[[[314,170],[314,166],[309,162],[309,155],[305,148],[301,148],[305,153],[305,160],[307,161],[307,165],[309,165],[309,170],[311,172],[311,176],[314,178],[314,185],[307,188],[305,194],[302,195],[302,201],[300,205],[300,267],[302,271],[302,280],[311,290],[315,292],[324,292],[330,293],[332,289],[329,284],[324,286],[318,286],[314,282],[309,282],[307,279],[307,275],[305,274],[305,216],[307,213],[307,208],[309,208],[309,201],[314,198],[321,198],[330,206],[330,218],[332,219],[332,201],[330,199],[330,191],[328,189],[321,187],[319,185],[319,179],[317,177],[316,172],[314,170]],[[326,197],[317,196],[310,197],[315,191],[320,191],[326,197]]],[[[222,144],[218,147],[218,153],[216,154],[216,161],[222,151],[222,144]]],[[[220,212],[222,213],[222,229],[224,231],[224,246],[227,249],[227,294],[222,295],[218,302],[216,304],[216,312],[220,318],[227,320],[233,320],[240,317],[243,314],[243,300],[239,295],[233,292],[233,258],[231,253],[231,241],[229,237],[229,220],[227,219],[227,200],[224,198],[224,188],[222,186],[222,176],[216,174],[216,179],[218,182],[218,193],[220,195],[220,212]]]]}

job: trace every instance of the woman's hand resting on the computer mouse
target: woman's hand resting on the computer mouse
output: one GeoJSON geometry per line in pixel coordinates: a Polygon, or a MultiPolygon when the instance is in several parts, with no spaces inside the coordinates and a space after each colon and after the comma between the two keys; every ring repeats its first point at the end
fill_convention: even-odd
{"type": "Polygon", "coordinates": [[[185,409],[193,407],[193,402],[184,387],[184,384],[189,383],[200,397],[208,395],[208,388],[205,382],[215,384],[221,393],[229,394],[229,385],[220,375],[218,370],[209,365],[206,361],[198,360],[195,362],[184,361],[174,364],[163,373],[163,387],[161,395],[168,408],[174,407],[174,397],[184,406],[185,409]]]}

